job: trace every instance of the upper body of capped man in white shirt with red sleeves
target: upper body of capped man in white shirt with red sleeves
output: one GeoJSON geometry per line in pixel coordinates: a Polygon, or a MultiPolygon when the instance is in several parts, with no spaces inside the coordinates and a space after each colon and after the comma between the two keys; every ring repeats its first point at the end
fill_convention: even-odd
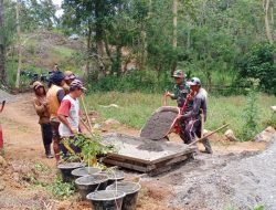
{"type": "MultiPolygon", "coordinates": [[[[86,88],[79,80],[74,80],[70,84],[70,94],[67,94],[59,108],[59,118],[61,120],[59,133],[63,138],[72,138],[79,129],[79,102],[78,97],[86,88]]],[[[73,148],[74,149],[74,148],[73,148]]],[[[75,150],[75,149],[74,149],[75,150]]]]}

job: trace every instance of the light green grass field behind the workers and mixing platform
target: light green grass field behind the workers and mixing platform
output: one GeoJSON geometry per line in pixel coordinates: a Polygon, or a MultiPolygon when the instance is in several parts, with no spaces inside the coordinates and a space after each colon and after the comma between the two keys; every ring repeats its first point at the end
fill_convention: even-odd
{"type": "MultiPolygon", "coordinates": [[[[94,109],[102,114],[104,118],[115,118],[121,124],[140,129],[151,114],[163,105],[163,97],[159,94],[142,93],[94,93],[86,96],[87,109],[94,109]],[[117,104],[116,107],[103,107],[109,104],[117,104]]],[[[241,137],[242,127],[245,124],[243,109],[245,107],[245,96],[212,96],[209,95],[208,122],[205,128],[213,130],[225,123],[230,123],[230,128],[237,137],[241,137]]],[[[257,105],[259,112],[258,130],[261,132],[272,122],[270,106],[276,104],[275,96],[262,94],[258,96],[257,105]]],[[[176,102],[169,99],[169,105],[176,102]]]]}

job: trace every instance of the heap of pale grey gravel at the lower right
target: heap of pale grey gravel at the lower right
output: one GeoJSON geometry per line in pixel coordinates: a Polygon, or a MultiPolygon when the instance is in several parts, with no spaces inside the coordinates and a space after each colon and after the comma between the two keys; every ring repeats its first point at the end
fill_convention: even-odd
{"type": "Polygon", "coordinates": [[[261,154],[203,156],[170,174],[173,207],[250,210],[262,204],[276,209],[276,135],[261,154]],[[195,166],[197,165],[197,166],[195,166]]]}

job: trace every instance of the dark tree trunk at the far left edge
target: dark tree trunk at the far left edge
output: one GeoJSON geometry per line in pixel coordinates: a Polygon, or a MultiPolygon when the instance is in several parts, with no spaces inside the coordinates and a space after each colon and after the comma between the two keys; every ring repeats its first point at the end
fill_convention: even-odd
{"type": "Polygon", "coordinates": [[[3,0],[0,0],[0,83],[7,85],[7,72],[6,72],[6,48],[4,48],[4,7],[3,0]]]}

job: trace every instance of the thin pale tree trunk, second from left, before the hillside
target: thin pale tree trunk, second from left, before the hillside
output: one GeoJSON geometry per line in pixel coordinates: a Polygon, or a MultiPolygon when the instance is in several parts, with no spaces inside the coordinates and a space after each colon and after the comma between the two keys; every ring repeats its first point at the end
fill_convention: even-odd
{"type": "Polygon", "coordinates": [[[21,31],[20,31],[20,17],[19,17],[19,0],[17,0],[17,32],[18,32],[18,73],[15,81],[15,88],[19,90],[20,70],[22,66],[22,46],[21,46],[21,31]]]}

